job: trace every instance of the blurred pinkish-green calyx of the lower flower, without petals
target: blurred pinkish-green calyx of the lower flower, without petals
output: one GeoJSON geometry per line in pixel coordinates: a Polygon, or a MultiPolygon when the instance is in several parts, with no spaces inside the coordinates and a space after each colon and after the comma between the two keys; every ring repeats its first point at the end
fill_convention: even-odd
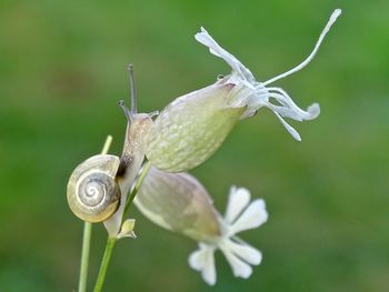
{"type": "Polygon", "coordinates": [[[167,173],[151,167],[134,203],[157,225],[196,241],[209,241],[221,234],[210,197],[187,173],[167,173]]]}

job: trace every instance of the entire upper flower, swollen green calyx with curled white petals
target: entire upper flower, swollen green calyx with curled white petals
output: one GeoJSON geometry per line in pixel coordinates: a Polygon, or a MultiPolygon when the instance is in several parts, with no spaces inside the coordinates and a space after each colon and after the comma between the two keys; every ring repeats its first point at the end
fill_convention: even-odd
{"type": "Polygon", "coordinates": [[[319,104],[315,103],[305,111],[281,88],[268,85],[307,66],[340,13],[339,9],[332,13],[313,51],[301,64],[265,82],[258,82],[249,69],[202,28],[196,39],[222,58],[232,72],[208,87],[174,99],[161,111],[144,134],[147,159],[163,171],[191,170],[219,149],[239,120],[253,115],[262,107],[272,110],[289,133],[300,141],[299,133],[283,118],[312,120],[320,113],[319,104]]]}

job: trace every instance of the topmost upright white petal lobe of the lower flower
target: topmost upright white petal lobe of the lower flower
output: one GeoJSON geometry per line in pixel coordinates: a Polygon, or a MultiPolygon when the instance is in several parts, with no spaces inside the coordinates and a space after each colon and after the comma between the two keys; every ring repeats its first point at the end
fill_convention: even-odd
{"type": "Polygon", "coordinates": [[[228,198],[226,220],[232,223],[250,202],[250,192],[245,188],[231,187],[228,198]]]}

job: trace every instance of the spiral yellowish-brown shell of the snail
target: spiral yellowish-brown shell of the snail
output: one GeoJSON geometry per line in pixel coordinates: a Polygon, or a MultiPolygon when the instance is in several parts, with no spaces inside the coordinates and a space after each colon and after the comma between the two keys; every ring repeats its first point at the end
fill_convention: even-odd
{"type": "Polygon", "coordinates": [[[120,160],[114,155],[96,155],[78,165],[68,183],[71,211],[87,222],[102,222],[119,208],[120,188],[114,180],[120,160]]]}

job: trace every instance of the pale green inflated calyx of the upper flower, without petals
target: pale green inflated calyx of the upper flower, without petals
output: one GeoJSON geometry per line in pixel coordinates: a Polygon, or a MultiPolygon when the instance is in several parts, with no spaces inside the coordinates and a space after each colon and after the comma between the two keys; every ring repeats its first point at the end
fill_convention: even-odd
{"type": "Polygon", "coordinates": [[[169,172],[189,170],[206,161],[245,111],[230,104],[235,88],[218,82],[170,103],[146,133],[148,160],[169,172]]]}

